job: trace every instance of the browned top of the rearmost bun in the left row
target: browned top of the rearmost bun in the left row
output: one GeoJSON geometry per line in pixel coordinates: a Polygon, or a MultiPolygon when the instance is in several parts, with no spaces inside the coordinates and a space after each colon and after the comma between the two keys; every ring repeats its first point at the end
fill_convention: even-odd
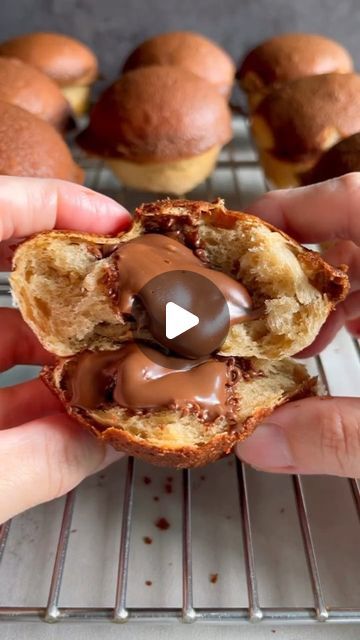
{"type": "Polygon", "coordinates": [[[93,52],[62,33],[28,33],[0,44],[0,56],[19,58],[60,85],[89,84],[98,73],[93,52]]]}

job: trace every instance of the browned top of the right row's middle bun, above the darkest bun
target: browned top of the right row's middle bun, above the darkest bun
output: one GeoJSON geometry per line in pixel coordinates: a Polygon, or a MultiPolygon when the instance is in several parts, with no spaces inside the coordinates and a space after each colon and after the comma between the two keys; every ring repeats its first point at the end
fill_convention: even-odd
{"type": "Polygon", "coordinates": [[[328,149],[360,130],[360,75],[308,76],[268,94],[253,115],[266,122],[272,151],[300,157],[328,149]]]}

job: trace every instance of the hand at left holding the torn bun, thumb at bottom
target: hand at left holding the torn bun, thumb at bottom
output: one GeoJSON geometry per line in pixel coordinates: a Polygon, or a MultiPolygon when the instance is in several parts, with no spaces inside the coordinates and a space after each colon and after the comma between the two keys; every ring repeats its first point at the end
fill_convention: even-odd
{"type": "MultiPolygon", "coordinates": [[[[12,238],[48,229],[116,233],[130,221],[115,201],[61,180],[0,176],[0,270],[12,238]]],[[[16,309],[0,308],[0,371],[50,363],[16,309]]],[[[40,379],[0,389],[0,522],[63,495],[121,457],[64,413],[40,379]]]]}

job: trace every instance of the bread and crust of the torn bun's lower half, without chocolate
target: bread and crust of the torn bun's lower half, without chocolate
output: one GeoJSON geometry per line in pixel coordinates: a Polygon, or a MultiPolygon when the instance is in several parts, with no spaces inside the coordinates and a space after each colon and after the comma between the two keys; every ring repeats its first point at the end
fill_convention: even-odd
{"type": "Polygon", "coordinates": [[[253,371],[262,375],[244,376],[236,384],[235,395],[239,399],[236,427],[229,427],[225,417],[204,424],[196,415],[182,415],[165,408],[145,417],[119,406],[84,410],[68,402],[67,368],[71,360],[47,367],[43,373],[69,414],[116,449],[165,466],[191,467],[216,460],[228,453],[235,442],[250,435],[276,406],[316,392],[316,379],[309,378],[304,366],[289,359],[276,363],[252,360],[253,371]]]}

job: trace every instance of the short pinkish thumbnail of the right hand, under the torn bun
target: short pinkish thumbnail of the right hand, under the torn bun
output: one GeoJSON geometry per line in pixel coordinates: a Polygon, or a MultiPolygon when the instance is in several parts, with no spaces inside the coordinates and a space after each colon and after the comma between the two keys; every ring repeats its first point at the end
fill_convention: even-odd
{"type": "Polygon", "coordinates": [[[245,462],[261,469],[285,469],[294,466],[284,430],[276,424],[262,424],[236,445],[236,453],[245,462]]]}

